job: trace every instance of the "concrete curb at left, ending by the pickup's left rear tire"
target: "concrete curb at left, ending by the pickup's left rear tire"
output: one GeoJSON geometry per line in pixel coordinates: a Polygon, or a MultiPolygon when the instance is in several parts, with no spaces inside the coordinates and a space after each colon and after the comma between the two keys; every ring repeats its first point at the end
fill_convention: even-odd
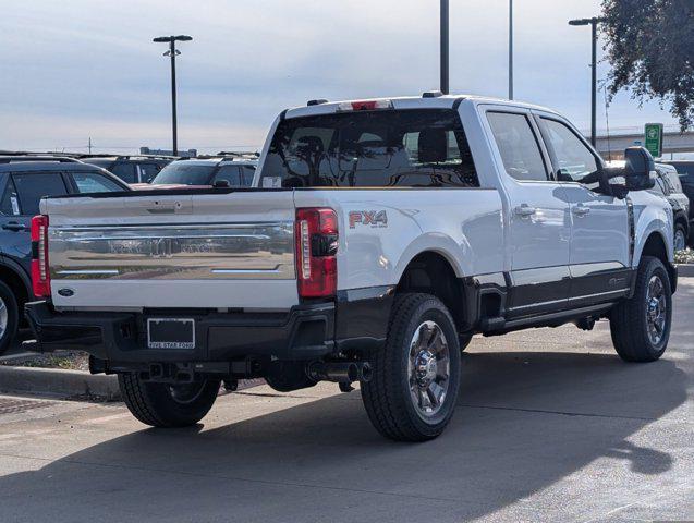
{"type": "Polygon", "coordinates": [[[33,392],[62,397],[120,399],[115,376],[93,375],[83,370],[0,366],[0,391],[33,392]]]}

